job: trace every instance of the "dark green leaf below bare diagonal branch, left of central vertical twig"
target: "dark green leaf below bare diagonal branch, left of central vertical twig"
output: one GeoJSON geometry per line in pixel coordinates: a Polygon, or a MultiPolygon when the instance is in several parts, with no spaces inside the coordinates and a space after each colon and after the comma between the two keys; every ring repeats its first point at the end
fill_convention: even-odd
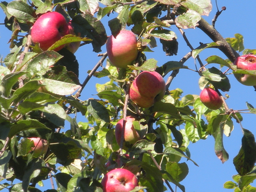
{"type": "Polygon", "coordinates": [[[95,119],[110,123],[108,110],[101,105],[101,103],[97,102],[96,99],[89,99],[87,108],[88,112],[92,114],[95,119]]]}

